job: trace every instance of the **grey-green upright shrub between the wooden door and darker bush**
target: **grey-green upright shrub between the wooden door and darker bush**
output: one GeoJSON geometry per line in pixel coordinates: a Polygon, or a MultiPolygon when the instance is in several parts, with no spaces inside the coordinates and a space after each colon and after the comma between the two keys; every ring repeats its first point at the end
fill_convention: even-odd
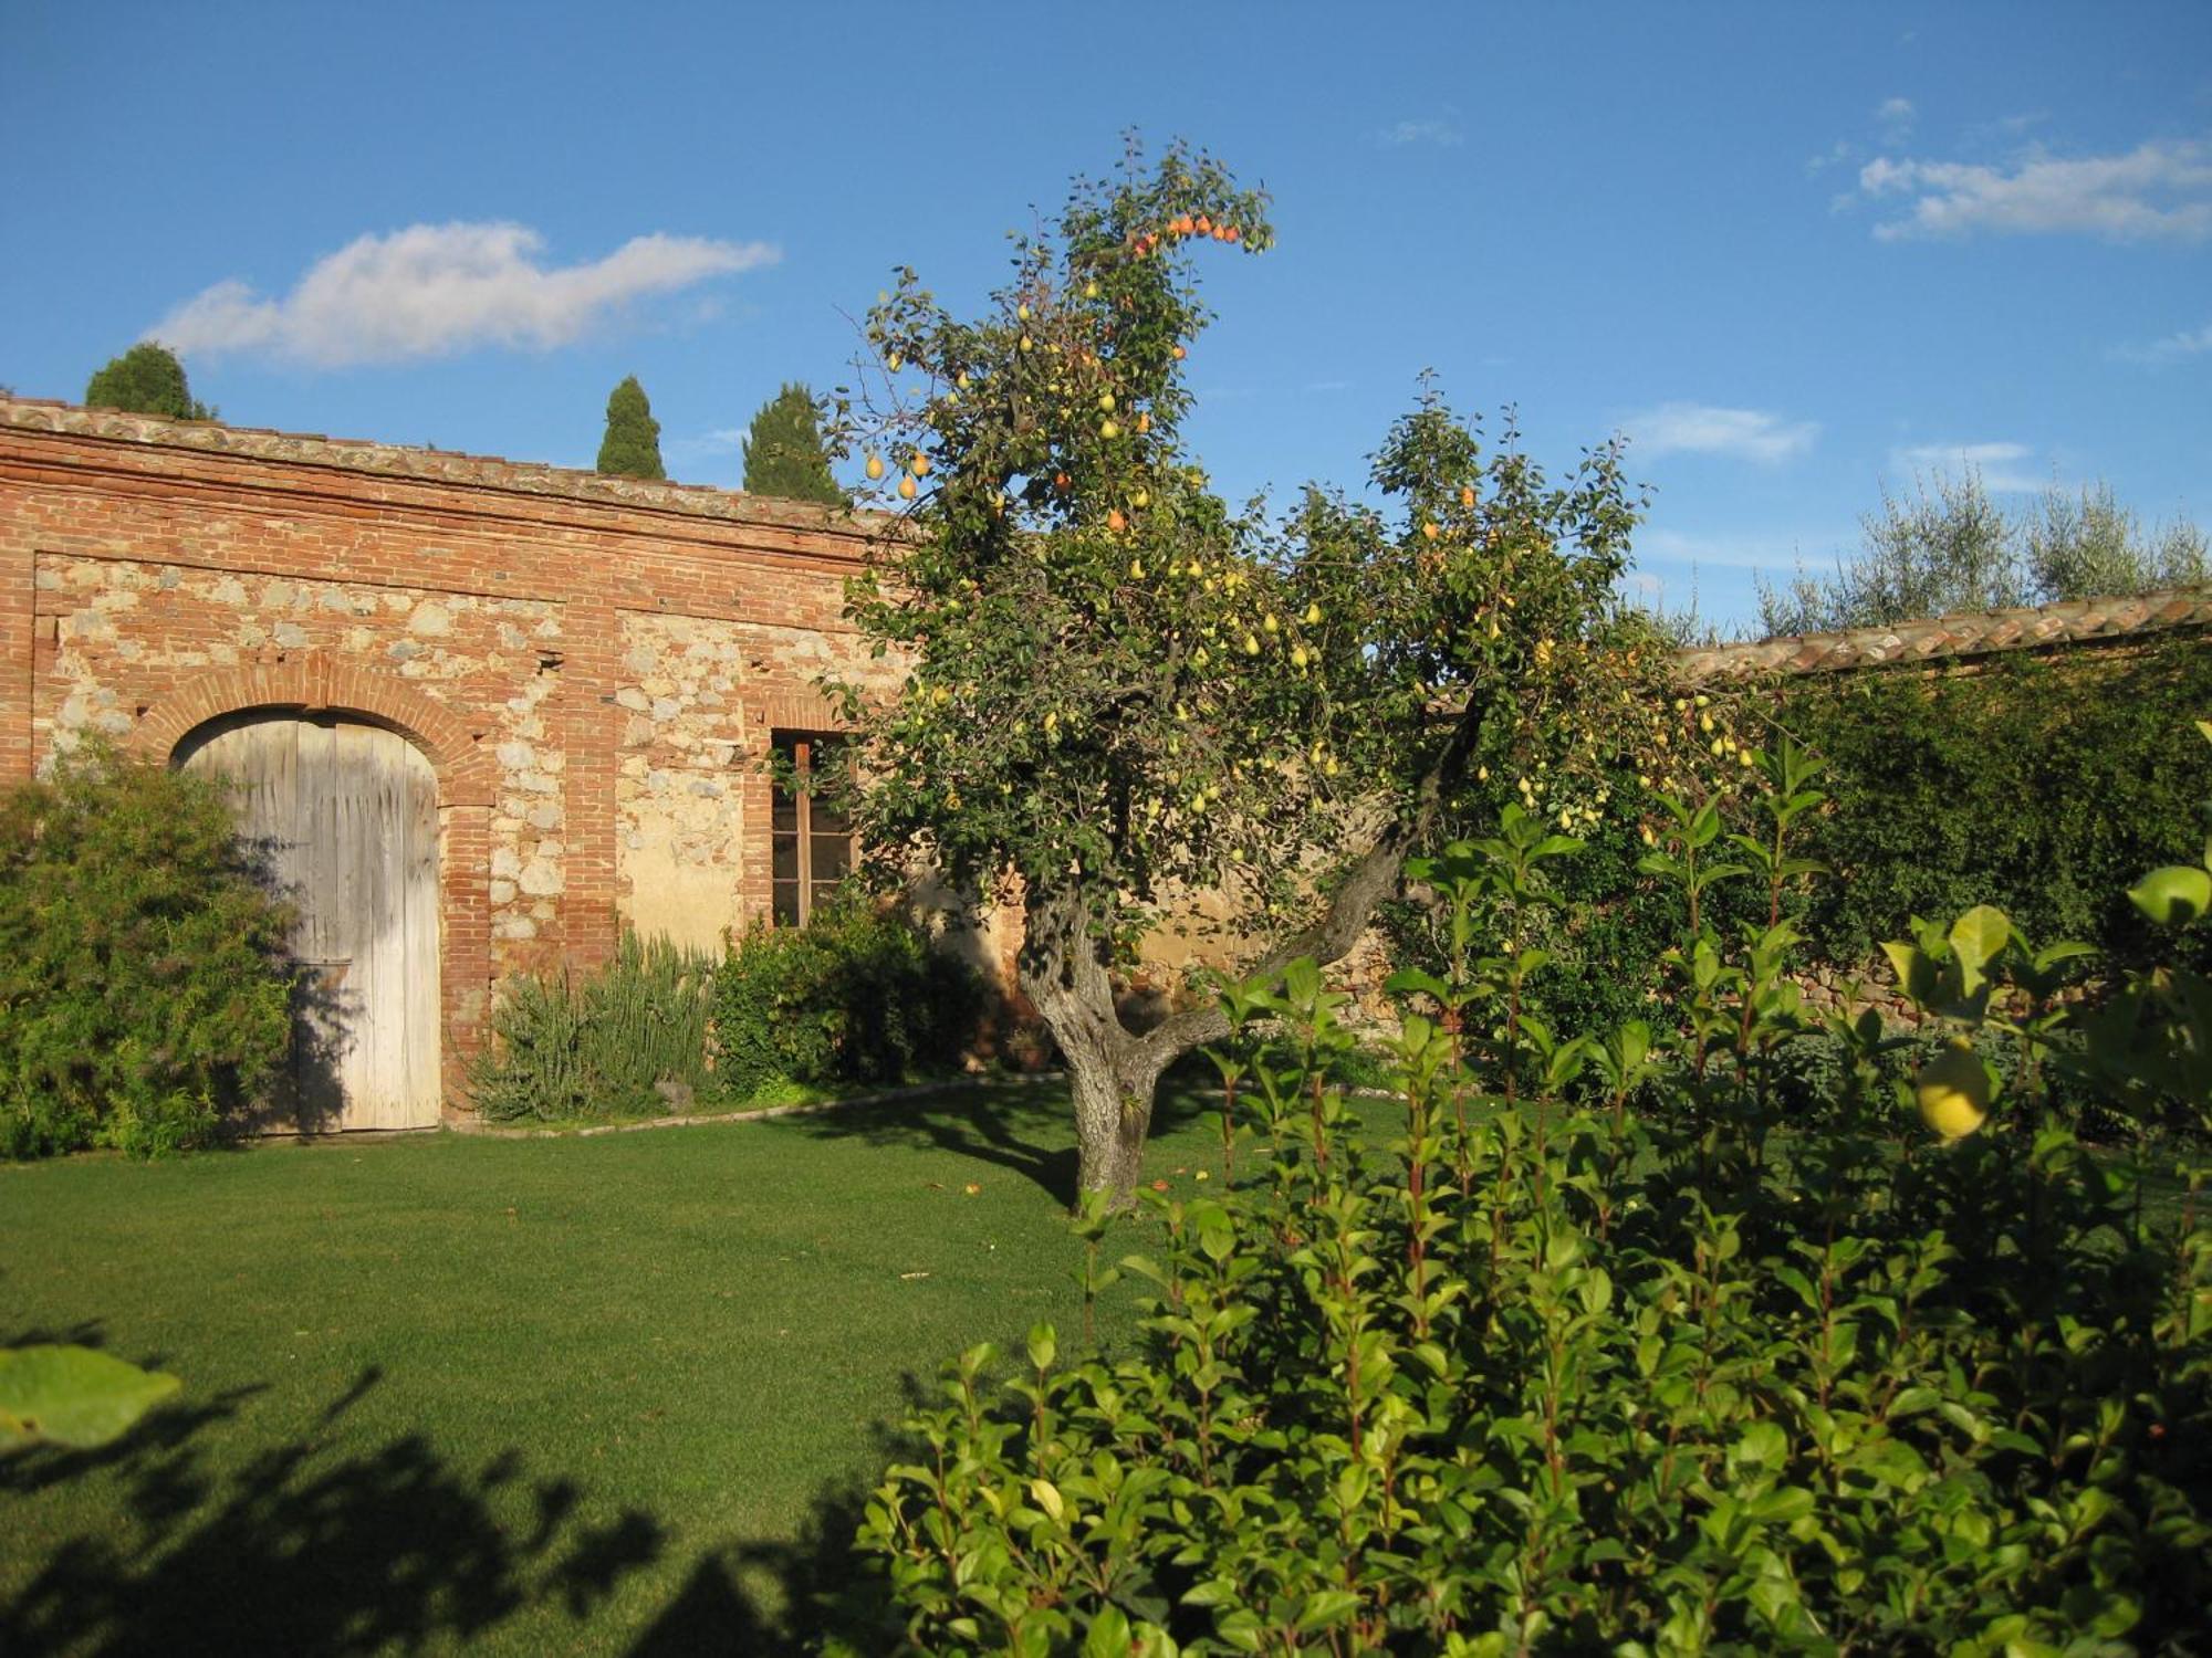
{"type": "Polygon", "coordinates": [[[582,984],[524,975],[491,1015],[471,1072],[491,1121],[575,1121],[690,1110],[708,1088],[712,959],[624,933],[582,984]]]}

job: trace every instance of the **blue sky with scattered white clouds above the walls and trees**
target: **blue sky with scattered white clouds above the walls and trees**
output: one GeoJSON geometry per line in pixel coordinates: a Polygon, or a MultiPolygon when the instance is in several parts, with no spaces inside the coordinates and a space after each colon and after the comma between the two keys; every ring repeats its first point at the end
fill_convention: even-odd
{"type": "Polygon", "coordinates": [[[186,345],[226,420],[588,466],[637,374],[734,484],[911,263],[953,303],[1119,133],[1274,195],[1210,245],[1192,447],[1358,484],[1433,367],[1639,573],[1747,619],[1885,482],[2212,522],[2212,4],[0,4],[0,385],[186,345]]]}

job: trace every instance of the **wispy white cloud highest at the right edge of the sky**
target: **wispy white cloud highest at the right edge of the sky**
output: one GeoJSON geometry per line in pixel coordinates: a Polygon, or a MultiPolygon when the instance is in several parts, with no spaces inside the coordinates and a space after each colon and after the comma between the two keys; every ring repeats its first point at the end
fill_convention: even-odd
{"type": "Polygon", "coordinates": [[[1891,161],[1858,170],[1865,199],[1905,199],[1902,219],[1874,228],[1907,237],[2084,234],[2104,241],[2212,237],[2212,146],[2139,144],[2126,155],[2059,159],[2031,153],[2013,168],[1969,161],[1891,161]]]}

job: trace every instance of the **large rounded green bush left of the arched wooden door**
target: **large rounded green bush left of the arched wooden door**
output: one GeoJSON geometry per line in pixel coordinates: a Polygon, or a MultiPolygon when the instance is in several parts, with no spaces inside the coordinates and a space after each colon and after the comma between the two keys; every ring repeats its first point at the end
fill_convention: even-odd
{"type": "Polygon", "coordinates": [[[0,791],[0,1154],[204,1145],[290,1048],[288,926],[210,778],[84,752],[0,791]]]}

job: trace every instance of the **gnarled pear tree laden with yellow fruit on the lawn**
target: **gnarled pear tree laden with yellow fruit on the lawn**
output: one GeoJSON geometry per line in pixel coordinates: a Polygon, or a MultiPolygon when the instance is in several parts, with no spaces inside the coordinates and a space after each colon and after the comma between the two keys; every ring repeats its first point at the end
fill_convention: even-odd
{"type": "Polygon", "coordinates": [[[1086,1192],[1137,1183],[1161,1072],[1225,1030],[1214,997],[1117,1012],[1164,915],[1221,893],[1239,968],[1334,962],[1462,783],[1557,756],[1546,807],[1595,811],[1571,756],[1630,699],[1617,449],[1553,484],[1425,387],[1374,460],[1383,506],[1210,489],[1181,438],[1197,270],[1272,248],[1265,195],[1133,146],[1015,239],[980,316],[900,272],[834,402],[865,500],[900,513],[849,612],[905,668],[885,696],[832,683],[845,796],[880,878],[920,858],[1020,904],[1086,1192]]]}

